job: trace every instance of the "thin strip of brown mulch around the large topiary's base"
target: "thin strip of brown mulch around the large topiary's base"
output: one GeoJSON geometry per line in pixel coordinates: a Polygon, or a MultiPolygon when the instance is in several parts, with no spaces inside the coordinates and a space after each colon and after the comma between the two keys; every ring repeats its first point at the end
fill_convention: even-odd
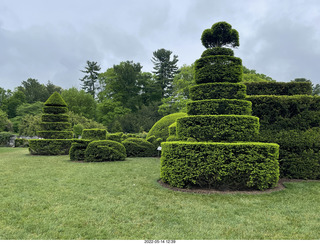
{"type": "Polygon", "coordinates": [[[188,192],[188,193],[198,193],[198,194],[266,194],[276,191],[282,191],[286,187],[283,183],[286,182],[320,182],[319,180],[299,180],[299,179],[280,179],[278,182],[278,185],[272,189],[267,189],[264,191],[258,191],[258,190],[244,190],[244,191],[232,191],[232,190],[216,190],[216,189],[209,189],[209,188],[192,188],[192,189],[183,189],[178,187],[171,187],[170,185],[162,182],[161,180],[158,180],[158,183],[170,190],[173,191],[180,191],[180,192],[188,192]]]}

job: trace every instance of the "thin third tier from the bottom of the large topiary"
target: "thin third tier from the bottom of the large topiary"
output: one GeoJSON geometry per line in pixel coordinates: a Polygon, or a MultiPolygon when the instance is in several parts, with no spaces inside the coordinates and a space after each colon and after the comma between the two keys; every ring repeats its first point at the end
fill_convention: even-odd
{"type": "Polygon", "coordinates": [[[188,115],[215,115],[236,114],[251,115],[250,101],[238,99],[211,99],[189,102],[187,104],[188,115]]]}

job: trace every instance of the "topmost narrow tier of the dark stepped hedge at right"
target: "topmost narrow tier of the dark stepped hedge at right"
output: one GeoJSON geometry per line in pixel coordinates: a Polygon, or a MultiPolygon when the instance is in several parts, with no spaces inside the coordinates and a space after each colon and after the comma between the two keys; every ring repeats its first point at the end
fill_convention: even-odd
{"type": "Polygon", "coordinates": [[[250,82],[248,95],[312,95],[311,82],[250,82]]]}

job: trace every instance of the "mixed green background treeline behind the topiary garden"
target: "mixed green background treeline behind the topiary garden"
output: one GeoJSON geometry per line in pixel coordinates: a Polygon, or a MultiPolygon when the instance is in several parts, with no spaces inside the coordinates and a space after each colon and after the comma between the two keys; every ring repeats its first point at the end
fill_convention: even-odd
{"type": "MultiPolygon", "coordinates": [[[[104,128],[109,132],[142,133],[163,116],[186,112],[194,65],[177,66],[178,57],[165,49],[153,52],[152,72],[140,63],[123,61],[101,72],[97,62],[87,61],[81,89],[63,89],[50,81],[29,78],[13,91],[0,87],[0,131],[36,135],[43,103],[57,91],[68,104],[75,128],[104,128]]],[[[308,81],[304,78],[295,81],[308,81]]],[[[275,82],[271,77],[243,67],[243,82],[275,82]]],[[[313,87],[319,94],[319,85],[313,87]]]]}

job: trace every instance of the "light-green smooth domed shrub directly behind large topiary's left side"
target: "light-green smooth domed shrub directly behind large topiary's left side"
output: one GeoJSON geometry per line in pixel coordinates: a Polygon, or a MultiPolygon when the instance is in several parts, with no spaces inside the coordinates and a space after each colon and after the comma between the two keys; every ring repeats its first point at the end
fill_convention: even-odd
{"type": "Polygon", "coordinates": [[[185,116],[187,116],[186,113],[174,113],[164,116],[152,126],[147,139],[151,136],[155,136],[157,139],[160,138],[162,141],[165,141],[169,137],[168,127],[176,122],[178,118],[185,116]]]}

